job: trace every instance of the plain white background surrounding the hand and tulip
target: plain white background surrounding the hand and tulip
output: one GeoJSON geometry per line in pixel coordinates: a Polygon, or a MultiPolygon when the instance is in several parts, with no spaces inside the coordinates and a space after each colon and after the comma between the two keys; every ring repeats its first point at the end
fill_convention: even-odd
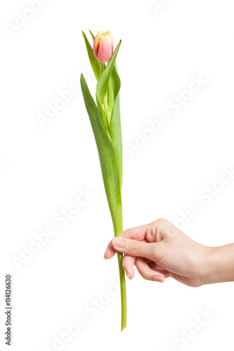
{"type": "Polygon", "coordinates": [[[37,13],[23,0],[2,1],[0,8],[1,348],[10,272],[11,350],[58,350],[55,338],[82,316],[86,326],[60,350],[232,350],[233,283],[195,289],[172,279],[148,282],[136,272],[126,280],[127,327],[120,332],[120,294],[112,288],[116,296],[106,295],[110,280],[119,282],[117,257],[103,259],[114,234],[79,75],[86,72],[93,93],[82,30],[110,29],[115,46],[122,39],[124,229],[161,217],[174,223],[195,202],[200,213],[188,216],[183,231],[210,246],[233,242],[234,180],[209,204],[199,195],[221,186],[215,182],[223,167],[234,165],[233,1],[157,1],[158,9],[143,0],[44,3],[37,13]],[[18,13],[32,18],[21,19],[17,30],[18,13]],[[207,83],[190,96],[184,91],[192,77],[207,83]],[[77,93],[42,126],[39,114],[72,84],[77,93]],[[190,100],[174,113],[168,102],[181,94],[190,100]],[[168,122],[131,156],[129,144],[136,146],[147,121],[162,112],[168,122]],[[93,196],[61,227],[54,216],[79,190],[93,196]],[[23,247],[49,226],[56,234],[17,269],[13,258],[22,259],[23,247]],[[95,317],[86,311],[93,299],[102,301],[95,317]],[[213,314],[204,326],[195,325],[200,310],[213,314]],[[174,339],[183,329],[194,331],[185,346],[174,339]]]}

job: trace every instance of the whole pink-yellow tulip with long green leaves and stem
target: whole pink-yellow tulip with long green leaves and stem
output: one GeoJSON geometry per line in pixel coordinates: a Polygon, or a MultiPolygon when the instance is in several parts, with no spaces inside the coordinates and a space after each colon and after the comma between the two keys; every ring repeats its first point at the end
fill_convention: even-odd
{"type": "MultiPolygon", "coordinates": [[[[113,41],[110,31],[99,32],[95,38],[91,32],[91,36],[94,41],[93,48],[83,32],[91,67],[97,79],[96,102],[93,100],[83,74],[81,75],[82,93],[98,148],[100,168],[103,174],[105,194],[108,199],[115,237],[122,237],[120,79],[115,63],[121,41],[119,41],[113,53],[113,41]],[[107,61],[109,61],[108,64],[105,64],[107,61]]],[[[122,267],[123,254],[117,252],[117,258],[122,305],[121,330],[123,330],[126,328],[126,286],[125,273],[122,267]]]]}

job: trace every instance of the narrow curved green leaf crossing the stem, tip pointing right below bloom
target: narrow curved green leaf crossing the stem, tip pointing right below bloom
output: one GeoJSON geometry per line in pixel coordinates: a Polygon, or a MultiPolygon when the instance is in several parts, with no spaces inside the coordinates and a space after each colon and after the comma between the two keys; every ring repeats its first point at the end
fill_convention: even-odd
{"type": "Polygon", "coordinates": [[[110,59],[107,67],[105,67],[103,74],[98,80],[98,83],[96,86],[96,100],[97,100],[98,111],[100,110],[100,107],[103,106],[103,100],[105,98],[105,93],[108,88],[108,81],[110,79],[112,69],[115,66],[115,60],[117,58],[117,53],[119,51],[120,45],[121,45],[121,40],[119,41],[119,44],[117,45],[117,48],[115,49],[115,52],[113,53],[112,58],[110,59]]]}

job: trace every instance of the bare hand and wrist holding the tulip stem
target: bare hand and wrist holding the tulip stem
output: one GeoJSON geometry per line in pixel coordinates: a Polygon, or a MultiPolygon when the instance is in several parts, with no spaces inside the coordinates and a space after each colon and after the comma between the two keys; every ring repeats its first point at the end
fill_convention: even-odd
{"type": "Polygon", "coordinates": [[[168,277],[194,287],[234,282],[234,244],[198,244],[166,219],[125,230],[122,238],[110,241],[104,258],[112,258],[116,251],[124,253],[122,266],[129,279],[136,266],[144,279],[155,282],[168,277]],[[120,241],[124,247],[119,247],[120,241]]]}

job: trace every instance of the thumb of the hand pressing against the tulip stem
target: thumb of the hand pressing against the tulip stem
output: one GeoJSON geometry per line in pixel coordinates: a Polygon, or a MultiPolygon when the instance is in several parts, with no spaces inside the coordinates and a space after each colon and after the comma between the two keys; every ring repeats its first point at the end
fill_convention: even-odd
{"type": "Polygon", "coordinates": [[[133,239],[125,239],[122,237],[114,237],[112,239],[112,246],[116,251],[126,253],[130,256],[138,256],[155,260],[157,243],[145,243],[133,239]]]}

